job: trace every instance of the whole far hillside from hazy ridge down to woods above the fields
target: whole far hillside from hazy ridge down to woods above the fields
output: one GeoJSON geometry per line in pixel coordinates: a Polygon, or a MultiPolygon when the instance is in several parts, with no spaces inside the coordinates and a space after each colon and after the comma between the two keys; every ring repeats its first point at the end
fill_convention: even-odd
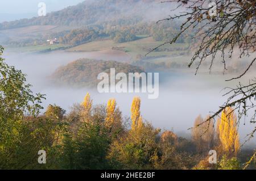
{"type": "MultiPolygon", "coordinates": [[[[167,15],[170,7],[159,0],[87,0],[46,16],[0,23],[0,44],[5,47],[47,45],[47,40],[56,38],[68,47],[105,38],[125,43],[141,36],[169,41],[179,30],[180,22],[156,24],[167,15]]],[[[177,41],[184,43],[190,39],[191,32],[177,41]]]]}

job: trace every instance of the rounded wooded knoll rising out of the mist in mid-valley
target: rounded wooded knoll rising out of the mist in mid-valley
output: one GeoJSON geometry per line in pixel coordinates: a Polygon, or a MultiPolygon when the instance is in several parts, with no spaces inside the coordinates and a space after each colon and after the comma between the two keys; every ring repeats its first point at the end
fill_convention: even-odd
{"type": "Polygon", "coordinates": [[[137,66],[116,61],[80,59],[61,66],[51,75],[51,81],[58,86],[95,87],[99,73],[110,73],[110,68],[122,73],[141,73],[137,66]]]}

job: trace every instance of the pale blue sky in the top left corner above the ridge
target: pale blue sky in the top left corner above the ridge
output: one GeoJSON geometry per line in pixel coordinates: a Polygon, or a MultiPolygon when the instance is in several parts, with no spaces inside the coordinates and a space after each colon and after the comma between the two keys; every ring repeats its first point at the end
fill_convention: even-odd
{"type": "Polygon", "coordinates": [[[84,0],[5,0],[0,5],[0,22],[32,18],[39,10],[40,2],[46,3],[46,11],[58,11],[68,6],[77,5],[84,0]]]}

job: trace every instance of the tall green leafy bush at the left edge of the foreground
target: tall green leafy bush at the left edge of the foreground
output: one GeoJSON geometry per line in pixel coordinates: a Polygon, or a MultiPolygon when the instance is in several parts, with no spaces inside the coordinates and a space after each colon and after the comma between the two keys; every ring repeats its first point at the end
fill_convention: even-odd
{"type": "Polygon", "coordinates": [[[25,150],[31,150],[33,139],[23,119],[38,115],[44,96],[34,95],[26,75],[7,65],[2,54],[0,46],[0,169],[23,169],[30,161],[28,157],[32,157],[25,150]]]}

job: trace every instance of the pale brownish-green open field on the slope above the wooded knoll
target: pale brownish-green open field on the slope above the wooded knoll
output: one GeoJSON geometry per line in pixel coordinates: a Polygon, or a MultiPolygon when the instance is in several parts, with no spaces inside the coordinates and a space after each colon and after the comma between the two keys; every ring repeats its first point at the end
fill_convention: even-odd
{"type": "MultiPolygon", "coordinates": [[[[99,41],[93,41],[90,43],[82,44],[77,47],[68,49],[70,52],[93,52],[100,50],[109,50],[113,48],[122,49],[124,52],[128,53],[133,59],[136,59],[138,55],[144,56],[150,49],[157,47],[162,44],[161,41],[155,41],[152,37],[142,37],[142,39],[136,41],[130,41],[126,43],[115,43],[113,40],[105,39],[99,41]]],[[[174,45],[164,45],[161,48],[179,48],[188,47],[187,44],[174,44],[174,45]]],[[[174,50],[174,51],[159,51],[151,52],[147,57],[163,57],[163,56],[174,56],[184,52],[184,50],[174,50]]]]}

